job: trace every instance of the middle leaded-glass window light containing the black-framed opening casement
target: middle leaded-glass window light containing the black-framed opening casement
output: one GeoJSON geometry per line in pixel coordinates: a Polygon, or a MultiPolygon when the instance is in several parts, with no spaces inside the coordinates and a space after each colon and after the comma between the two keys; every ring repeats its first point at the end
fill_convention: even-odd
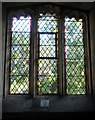
{"type": "Polygon", "coordinates": [[[57,18],[46,14],[38,20],[38,94],[57,94],[57,18]]]}

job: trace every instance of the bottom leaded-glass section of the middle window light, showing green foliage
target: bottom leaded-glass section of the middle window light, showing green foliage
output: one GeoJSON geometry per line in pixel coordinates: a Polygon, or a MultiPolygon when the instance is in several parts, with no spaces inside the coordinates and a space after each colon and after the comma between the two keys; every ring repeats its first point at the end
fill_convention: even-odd
{"type": "Polygon", "coordinates": [[[57,76],[41,75],[37,81],[39,94],[56,94],[57,93],[57,76]]]}

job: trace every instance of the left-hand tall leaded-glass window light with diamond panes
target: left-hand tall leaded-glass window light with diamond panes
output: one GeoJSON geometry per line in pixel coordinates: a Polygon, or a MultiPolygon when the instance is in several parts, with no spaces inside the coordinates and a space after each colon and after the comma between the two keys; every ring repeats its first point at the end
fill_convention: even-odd
{"type": "Polygon", "coordinates": [[[10,94],[29,93],[31,17],[12,18],[10,94]]]}

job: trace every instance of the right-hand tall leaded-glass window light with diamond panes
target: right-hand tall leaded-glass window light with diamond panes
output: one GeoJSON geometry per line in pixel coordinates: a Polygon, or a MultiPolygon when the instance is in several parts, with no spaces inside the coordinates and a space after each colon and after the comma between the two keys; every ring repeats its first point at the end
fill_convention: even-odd
{"type": "Polygon", "coordinates": [[[65,18],[65,59],[67,94],[85,94],[83,20],[65,18]]]}

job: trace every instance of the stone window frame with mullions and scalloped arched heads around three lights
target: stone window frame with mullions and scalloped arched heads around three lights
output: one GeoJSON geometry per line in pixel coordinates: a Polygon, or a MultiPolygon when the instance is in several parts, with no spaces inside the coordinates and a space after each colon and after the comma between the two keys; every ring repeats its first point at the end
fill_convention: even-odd
{"type": "MultiPolygon", "coordinates": [[[[51,5],[50,5],[51,6],[51,5]]],[[[51,9],[49,10],[49,8],[50,7],[48,7],[48,9],[46,9],[47,7],[45,6],[44,7],[44,10],[45,10],[45,13],[46,12],[53,12],[54,11],[54,9],[53,9],[53,6],[51,7],[51,9]]],[[[31,8],[30,8],[31,9],[31,8]]],[[[39,13],[40,12],[42,12],[42,11],[44,11],[42,8],[38,8],[37,9],[37,11],[36,11],[36,13],[32,10],[32,12],[30,12],[30,9],[28,9],[28,12],[27,12],[27,10],[22,10],[21,11],[21,14],[23,13],[23,11],[25,12],[26,11],[26,14],[29,14],[29,15],[31,15],[32,16],[32,21],[33,21],[33,23],[32,23],[32,33],[31,33],[31,42],[30,42],[30,61],[33,63],[33,64],[30,64],[30,86],[29,86],[29,94],[30,95],[32,95],[33,97],[35,97],[35,96],[37,96],[37,92],[36,92],[36,75],[37,75],[37,63],[36,63],[36,52],[37,52],[37,49],[36,49],[36,41],[37,41],[37,20],[38,20],[38,18],[39,18],[39,13]],[[39,11],[39,12],[38,12],[39,11]],[[35,13],[35,14],[34,14],[35,13]],[[33,58],[33,59],[32,59],[33,58]],[[32,79],[33,78],[33,79],[32,79]]],[[[59,8],[58,8],[59,9],[59,8]]],[[[88,40],[88,20],[87,20],[87,15],[86,15],[86,13],[85,12],[78,12],[78,10],[77,11],[75,11],[75,10],[72,10],[72,14],[69,14],[69,12],[68,11],[71,11],[71,9],[65,9],[65,12],[63,12],[63,13],[61,13],[62,15],[60,15],[60,12],[59,11],[62,11],[62,10],[58,10],[56,13],[57,13],[57,15],[58,15],[58,29],[59,29],[59,32],[58,32],[58,36],[59,36],[59,38],[58,38],[58,51],[60,51],[59,52],[59,54],[58,54],[58,73],[59,73],[59,89],[58,89],[58,94],[57,95],[67,95],[66,94],[66,81],[65,81],[65,71],[64,71],[64,68],[65,68],[65,64],[64,64],[64,62],[62,62],[62,61],[64,61],[64,59],[65,59],[65,56],[63,55],[62,56],[62,54],[64,54],[64,47],[60,47],[60,45],[63,45],[64,46],[64,33],[62,32],[62,29],[64,28],[64,26],[63,26],[63,19],[64,19],[64,17],[66,16],[66,15],[69,15],[70,17],[72,16],[72,14],[74,14],[73,16],[83,16],[85,19],[86,19],[86,21],[84,22],[84,46],[85,46],[85,48],[84,48],[84,51],[85,51],[85,57],[86,57],[86,74],[85,74],[85,76],[86,76],[86,87],[87,87],[87,91],[86,91],[86,94],[91,94],[91,76],[90,76],[90,59],[89,59],[89,40],[88,40]],[[75,13],[76,14],[75,14],[75,13]],[[86,41],[87,40],[87,41],[86,41]]],[[[18,12],[13,12],[11,15],[13,15],[13,14],[15,14],[15,15],[18,15],[19,16],[19,13],[20,13],[20,11],[18,10],[18,12]]],[[[10,19],[10,15],[9,15],[9,17],[8,17],[8,19],[10,19]]],[[[8,23],[7,23],[7,25],[8,25],[8,28],[9,28],[9,26],[10,26],[10,22],[8,21],[8,23]]],[[[9,43],[9,38],[10,38],[10,35],[9,34],[7,34],[6,33],[6,36],[7,36],[7,45],[6,46],[8,46],[8,45],[10,45],[10,43],[9,43]]],[[[10,49],[8,50],[7,48],[6,48],[6,50],[7,50],[7,53],[8,53],[8,51],[10,51],[10,49]]],[[[7,53],[6,53],[6,61],[7,61],[7,53]]],[[[31,63],[30,62],[30,63],[31,63]]],[[[8,67],[9,65],[8,65],[8,63],[6,64],[6,67],[8,67]]],[[[7,70],[8,69],[5,69],[5,73],[7,73],[7,70]]],[[[7,75],[5,75],[5,84],[7,84],[7,88],[8,88],[8,86],[9,86],[9,84],[8,84],[8,81],[6,81],[6,78],[8,77],[8,74],[9,73],[7,73],[7,75]]],[[[6,92],[6,90],[5,90],[5,92],[6,92]]],[[[8,94],[8,89],[7,89],[7,92],[6,92],[7,94],[8,94]]],[[[20,95],[22,95],[22,94],[20,94],[20,95]]]]}

